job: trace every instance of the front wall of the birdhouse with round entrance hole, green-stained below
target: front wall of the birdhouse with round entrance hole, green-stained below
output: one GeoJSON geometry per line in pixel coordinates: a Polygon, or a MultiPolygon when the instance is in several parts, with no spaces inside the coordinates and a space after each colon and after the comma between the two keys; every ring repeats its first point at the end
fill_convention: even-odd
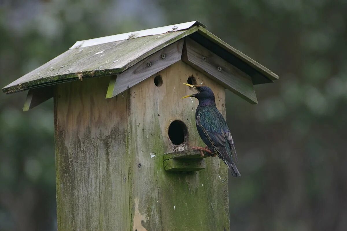
{"type": "Polygon", "coordinates": [[[211,87],[225,115],[225,89],[179,61],[130,88],[132,230],[229,230],[227,166],[207,158],[206,168],[190,173],[168,172],[163,154],[204,146],[195,127],[196,99],[181,99],[193,90],[190,75],[211,87]],[[154,85],[161,75],[163,84],[154,85]],[[186,141],[173,145],[168,127],[176,119],[188,128],[186,141]]]}

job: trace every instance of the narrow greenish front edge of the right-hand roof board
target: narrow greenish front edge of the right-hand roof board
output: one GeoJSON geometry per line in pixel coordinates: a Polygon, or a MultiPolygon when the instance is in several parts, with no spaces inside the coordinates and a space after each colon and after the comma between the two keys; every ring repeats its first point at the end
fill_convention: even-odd
{"type": "Polygon", "coordinates": [[[213,43],[216,45],[221,46],[222,48],[226,49],[229,51],[231,54],[234,54],[237,56],[239,59],[243,60],[250,66],[252,66],[254,69],[259,71],[260,73],[264,74],[266,77],[268,77],[270,80],[277,80],[278,75],[267,69],[265,66],[261,65],[260,63],[256,62],[255,60],[251,59],[247,55],[243,54],[239,50],[235,49],[234,47],[230,46],[226,42],[224,42],[222,39],[218,38],[208,30],[206,30],[204,27],[198,26],[198,33],[203,35],[204,37],[208,38],[211,40],[213,43]]]}

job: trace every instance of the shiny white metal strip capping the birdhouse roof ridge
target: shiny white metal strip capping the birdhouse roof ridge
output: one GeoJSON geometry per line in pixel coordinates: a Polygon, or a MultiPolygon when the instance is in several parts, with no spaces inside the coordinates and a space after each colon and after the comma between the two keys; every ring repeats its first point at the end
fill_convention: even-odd
{"type": "Polygon", "coordinates": [[[206,27],[204,24],[200,23],[199,21],[191,21],[191,22],[187,22],[187,23],[173,24],[173,25],[169,25],[169,26],[163,26],[163,27],[157,27],[157,28],[145,29],[145,30],[138,30],[138,31],[123,33],[123,34],[118,34],[118,35],[110,35],[110,36],[105,36],[105,37],[100,37],[100,38],[92,38],[92,39],[77,41],[73,46],[71,46],[69,48],[69,50],[80,48],[80,47],[87,47],[87,46],[103,44],[103,43],[122,41],[122,40],[126,40],[126,39],[131,39],[131,38],[138,38],[138,37],[144,37],[144,36],[149,36],[149,35],[159,35],[159,34],[164,34],[167,32],[185,30],[185,29],[191,28],[192,26],[201,26],[204,28],[206,27]]]}

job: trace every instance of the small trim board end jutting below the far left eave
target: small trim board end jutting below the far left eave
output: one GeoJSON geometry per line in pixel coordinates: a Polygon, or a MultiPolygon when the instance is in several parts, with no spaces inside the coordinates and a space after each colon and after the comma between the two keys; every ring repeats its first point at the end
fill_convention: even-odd
{"type": "Polygon", "coordinates": [[[33,107],[42,104],[44,101],[52,98],[53,93],[54,88],[52,86],[29,90],[23,106],[23,112],[26,112],[33,107]]]}

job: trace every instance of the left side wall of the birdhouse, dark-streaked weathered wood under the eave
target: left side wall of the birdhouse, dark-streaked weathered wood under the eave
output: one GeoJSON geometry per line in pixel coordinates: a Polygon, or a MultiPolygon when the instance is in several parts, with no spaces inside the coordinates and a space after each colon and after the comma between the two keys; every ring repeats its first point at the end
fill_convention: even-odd
{"type": "Polygon", "coordinates": [[[109,77],[57,86],[54,96],[58,230],[130,230],[126,94],[105,99],[109,77]]]}

